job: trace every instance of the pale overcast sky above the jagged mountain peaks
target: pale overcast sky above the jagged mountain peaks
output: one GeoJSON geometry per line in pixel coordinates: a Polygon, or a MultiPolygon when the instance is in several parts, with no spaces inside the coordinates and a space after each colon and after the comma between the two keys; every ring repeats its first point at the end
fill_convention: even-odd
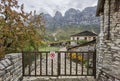
{"type": "Polygon", "coordinates": [[[36,10],[37,13],[44,12],[49,13],[52,16],[56,11],[60,11],[62,14],[69,8],[75,8],[82,10],[88,6],[97,5],[98,0],[19,0],[24,4],[25,11],[36,10]]]}

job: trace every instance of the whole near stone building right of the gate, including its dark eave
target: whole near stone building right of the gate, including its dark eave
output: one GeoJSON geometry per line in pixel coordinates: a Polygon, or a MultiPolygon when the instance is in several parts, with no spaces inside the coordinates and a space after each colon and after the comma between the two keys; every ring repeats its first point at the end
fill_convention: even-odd
{"type": "Polygon", "coordinates": [[[98,0],[96,15],[101,20],[97,81],[120,81],[120,0],[98,0]]]}

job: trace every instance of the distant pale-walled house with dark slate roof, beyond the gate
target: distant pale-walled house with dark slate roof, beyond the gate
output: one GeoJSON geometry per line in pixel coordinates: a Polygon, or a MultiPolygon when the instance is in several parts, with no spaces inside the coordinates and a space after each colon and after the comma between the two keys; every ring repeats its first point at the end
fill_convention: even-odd
{"type": "Polygon", "coordinates": [[[71,35],[70,39],[71,39],[71,45],[77,45],[77,42],[80,40],[84,40],[84,41],[92,41],[94,39],[96,39],[97,34],[90,32],[90,31],[83,31],[74,35],[71,35]]]}

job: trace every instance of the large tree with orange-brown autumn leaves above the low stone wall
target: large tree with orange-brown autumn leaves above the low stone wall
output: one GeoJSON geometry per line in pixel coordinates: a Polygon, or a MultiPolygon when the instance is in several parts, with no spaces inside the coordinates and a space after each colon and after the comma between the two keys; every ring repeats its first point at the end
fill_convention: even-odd
{"type": "Polygon", "coordinates": [[[37,49],[42,41],[44,24],[41,15],[25,13],[17,0],[0,3],[0,57],[6,53],[37,49]],[[37,31],[39,30],[39,32],[37,31]]]}

